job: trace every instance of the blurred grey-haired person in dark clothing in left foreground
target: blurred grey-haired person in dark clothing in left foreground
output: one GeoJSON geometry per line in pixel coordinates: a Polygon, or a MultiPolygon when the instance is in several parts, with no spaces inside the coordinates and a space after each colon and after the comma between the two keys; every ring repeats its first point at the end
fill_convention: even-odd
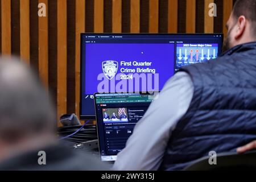
{"type": "Polygon", "coordinates": [[[106,170],[56,137],[54,108],[39,80],[20,60],[0,57],[0,170],[106,170]],[[46,165],[39,165],[39,151],[46,165]]]}

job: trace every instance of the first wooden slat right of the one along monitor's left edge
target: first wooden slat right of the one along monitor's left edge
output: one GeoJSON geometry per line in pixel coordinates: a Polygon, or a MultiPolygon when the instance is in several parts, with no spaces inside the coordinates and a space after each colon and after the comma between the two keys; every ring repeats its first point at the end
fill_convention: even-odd
{"type": "Polygon", "coordinates": [[[94,1],[94,32],[104,31],[104,0],[94,1]]]}

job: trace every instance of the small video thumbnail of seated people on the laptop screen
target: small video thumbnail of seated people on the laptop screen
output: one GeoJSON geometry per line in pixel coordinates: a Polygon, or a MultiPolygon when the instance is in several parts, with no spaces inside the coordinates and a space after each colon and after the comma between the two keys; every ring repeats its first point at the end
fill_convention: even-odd
{"type": "Polygon", "coordinates": [[[128,122],[127,108],[104,108],[102,109],[103,122],[113,123],[113,122],[128,122]]]}

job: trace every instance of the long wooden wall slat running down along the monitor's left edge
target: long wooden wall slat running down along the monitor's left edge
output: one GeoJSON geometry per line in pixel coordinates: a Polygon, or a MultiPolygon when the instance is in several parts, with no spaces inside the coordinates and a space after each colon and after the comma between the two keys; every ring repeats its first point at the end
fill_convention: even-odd
{"type": "Polygon", "coordinates": [[[85,31],[85,0],[76,0],[76,114],[79,115],[80,103],[80,33],[85,31]]]}

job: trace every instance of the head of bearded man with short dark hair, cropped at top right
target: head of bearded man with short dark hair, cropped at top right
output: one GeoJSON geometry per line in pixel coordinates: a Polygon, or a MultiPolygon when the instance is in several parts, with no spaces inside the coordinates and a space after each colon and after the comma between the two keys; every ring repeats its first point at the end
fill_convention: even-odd
{"type": "Polygon", "coordinates": [[[237,0],[226,23],[228,34],[224,51],[239,44],[256,41],[256,0],[237,0]]]}

